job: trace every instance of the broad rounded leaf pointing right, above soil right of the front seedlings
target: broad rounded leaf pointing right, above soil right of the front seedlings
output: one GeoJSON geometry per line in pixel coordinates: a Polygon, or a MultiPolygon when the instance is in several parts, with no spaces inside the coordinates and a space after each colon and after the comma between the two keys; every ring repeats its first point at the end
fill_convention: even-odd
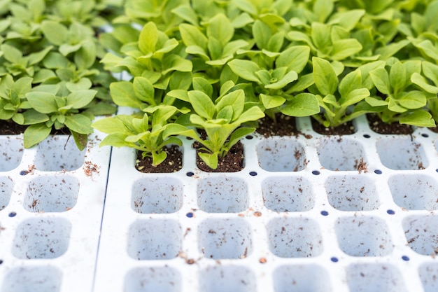
{"type": "Polygon", "coordinates": [[[312,116],[320,112],[318,99],[311,93],[300,93],[292,97],[281,109],[287,116],[302,117],[312,116]]]}

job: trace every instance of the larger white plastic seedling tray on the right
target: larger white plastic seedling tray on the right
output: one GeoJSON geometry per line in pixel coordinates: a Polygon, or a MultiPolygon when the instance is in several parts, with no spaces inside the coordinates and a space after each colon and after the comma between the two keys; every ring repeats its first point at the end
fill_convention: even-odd
{"type": "Polygon", "coordinates": [[[94,291],[438,291],[438,135],[297,127],[243,139],[235,173],[197,169],[187,139],[174,174],[114,148],[94,291]]]}

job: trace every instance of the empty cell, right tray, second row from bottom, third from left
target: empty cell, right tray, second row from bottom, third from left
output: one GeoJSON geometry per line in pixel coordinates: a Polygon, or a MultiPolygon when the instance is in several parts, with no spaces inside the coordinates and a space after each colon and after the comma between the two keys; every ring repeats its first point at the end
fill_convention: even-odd
{"type": "Polygon", "coordinates": [[[309,218],[275,218],[267,224],[269,249],[282,258],[309,258],[323,252],[323,237],[309,218]]]}

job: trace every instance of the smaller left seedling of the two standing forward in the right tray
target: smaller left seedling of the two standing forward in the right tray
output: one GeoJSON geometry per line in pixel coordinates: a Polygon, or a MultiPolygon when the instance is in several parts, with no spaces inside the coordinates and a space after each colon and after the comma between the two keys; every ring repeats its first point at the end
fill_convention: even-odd
{"type": "Polygon", "coordinates": [[[115,146],[141,151],[141,156],[151,157],[154,166],[160,165],[167,158],[164,147],[170,144],[182,146],[181,139],[173,135],[195,135],[195,131],[183,125],[171,123],[178,109],[175,106],[155,106],[148,109],[150,114],[136,113],[133,115],[118,115],[97,120],[92,127],[108,134],[100,146],[115,146]]]}

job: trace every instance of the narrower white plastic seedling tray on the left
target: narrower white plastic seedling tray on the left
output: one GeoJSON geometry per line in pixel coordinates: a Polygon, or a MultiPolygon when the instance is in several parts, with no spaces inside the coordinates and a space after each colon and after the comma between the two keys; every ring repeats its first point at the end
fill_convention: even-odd
{"type": "Polygon", "coordinates": [[[92,291],[111,148],[0,137],[0,292],[92,291]]]}

